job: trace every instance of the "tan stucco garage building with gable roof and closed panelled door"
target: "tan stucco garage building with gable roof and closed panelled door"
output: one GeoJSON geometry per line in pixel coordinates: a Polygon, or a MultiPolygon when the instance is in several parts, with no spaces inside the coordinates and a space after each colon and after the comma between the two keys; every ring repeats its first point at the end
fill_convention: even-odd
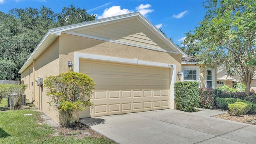
{"type": "Polygon", "coordinates": [[[94,106],[79,112],[86,118],[173,109],[182,57],[180,48],[135,12],[50,29],[19,73],[28,84],[26,98],[59,123],[58,111],[49,110],[46,88],[38,84],[68,72],[68,61],[74,72],[96,83],[94,106]]]}

